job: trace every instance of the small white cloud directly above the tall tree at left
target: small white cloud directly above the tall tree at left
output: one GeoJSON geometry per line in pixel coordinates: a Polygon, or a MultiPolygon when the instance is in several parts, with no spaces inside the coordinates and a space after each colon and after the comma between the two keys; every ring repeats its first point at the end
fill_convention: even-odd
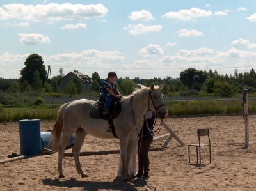
{"type": "Polygon", "coordinates": [[[20,36],[20,42],[26,45],[37,45],[39,43],[50,43],[48,36],[43,34],[18,34],[20,36]]]}

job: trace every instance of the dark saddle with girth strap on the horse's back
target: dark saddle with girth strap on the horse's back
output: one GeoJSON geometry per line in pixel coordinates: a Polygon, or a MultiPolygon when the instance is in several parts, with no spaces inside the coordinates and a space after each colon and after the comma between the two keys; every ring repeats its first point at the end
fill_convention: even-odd
{"type": "Polygon", "coordinates": [[[114,135],[114,137],[118,138],[116,136],[115,132],[115,126],[113,123],[113,119],[117,118],[122,110],[121,103],[119,102],[119,99],[113,99],[111,102],[110,108],[109,108],[109,114],[104,115],[104,102],[96,102],[92,105],[92,109],[90,111],[91,118],[95,119],[104,119],[108,120],[108,125],[110,128],[110,131],[114,135]]]}

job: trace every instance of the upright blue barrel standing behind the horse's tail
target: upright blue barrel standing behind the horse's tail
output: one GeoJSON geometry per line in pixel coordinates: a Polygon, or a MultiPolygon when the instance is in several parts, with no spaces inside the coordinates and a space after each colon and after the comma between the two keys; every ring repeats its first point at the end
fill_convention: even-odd
{"type": "Polygon", "coordinates": [[[20,154],[40,155],[40,119],[24,119],[19,121],[20,154]]]}

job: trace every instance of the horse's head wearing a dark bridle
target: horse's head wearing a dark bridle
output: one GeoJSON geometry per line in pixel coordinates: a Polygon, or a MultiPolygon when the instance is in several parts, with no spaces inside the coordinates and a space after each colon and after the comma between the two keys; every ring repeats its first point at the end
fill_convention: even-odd
{"type": "Polygon", "coordinates": [[[163,86],[164,84],[161,86],[154,86],[154,84],[151,84],[148,99],[148,107],[156,111],[160,119],[165,119],[168,117],[168,111],[166,109],[166,105],[164,104],[164,96],[160,91],[163,86]]]}

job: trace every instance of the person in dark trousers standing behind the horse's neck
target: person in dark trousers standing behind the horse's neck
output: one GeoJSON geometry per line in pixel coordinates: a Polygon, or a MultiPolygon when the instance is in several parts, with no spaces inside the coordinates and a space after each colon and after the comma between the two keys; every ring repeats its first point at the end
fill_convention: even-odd
{"type": "Polygon", "coordinates": [[[150,149],[150,145],[153,142],[153,128],[154,128],[154,122],[156,119],[156,113],[154,111],[151,111],[148,109],[145,112],[144,115],[144,125],[141,129],[140,134],[138,135],[138,173],[134,175],[133,177],[143,177],[143,178],[149,178],[148,171],[149,169],[149,157],[148,152],[150,149]],[[143,172],[144,171],[144,172],[143,172]]]}

